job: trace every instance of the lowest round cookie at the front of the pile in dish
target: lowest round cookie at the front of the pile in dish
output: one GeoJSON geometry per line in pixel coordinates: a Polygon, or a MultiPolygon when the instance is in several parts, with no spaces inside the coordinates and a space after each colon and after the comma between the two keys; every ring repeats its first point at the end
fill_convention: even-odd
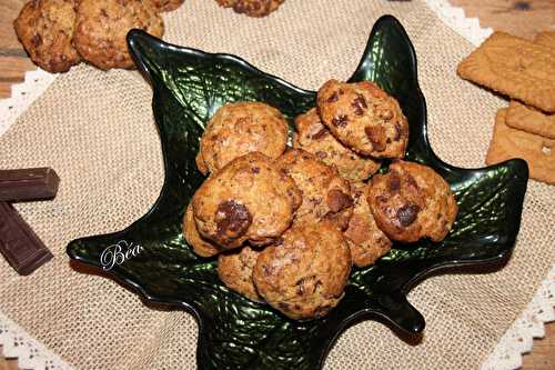
{"type": "Polygon", "coordinates": [[[259,256],[253,280],[260,296],[295,320],[321,318],[343,298],[351,252],[327,222],[294,226],[259,256]]]}

